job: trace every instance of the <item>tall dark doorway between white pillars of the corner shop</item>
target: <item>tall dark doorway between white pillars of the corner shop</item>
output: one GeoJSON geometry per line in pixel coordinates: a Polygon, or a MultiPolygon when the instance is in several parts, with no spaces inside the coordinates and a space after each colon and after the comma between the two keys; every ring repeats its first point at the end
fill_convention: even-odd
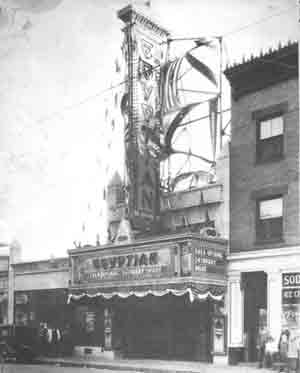
{"type": "Polygon", "coordinates": [[[244,272],[244,331],[246,337],[245,360],[257,361],[258,329],[267,323],[267,274],[244,272]]]}

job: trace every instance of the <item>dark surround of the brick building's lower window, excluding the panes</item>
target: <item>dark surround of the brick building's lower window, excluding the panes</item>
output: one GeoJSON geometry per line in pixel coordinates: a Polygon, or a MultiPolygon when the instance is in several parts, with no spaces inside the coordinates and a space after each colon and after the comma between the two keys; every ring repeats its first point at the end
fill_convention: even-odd
{"type": "Polygon", "coordinates": [[[257,243],[268,243],[268,242],[282,242],[284,239],[284,195],[283,194],[277,194],[277,195],[272,195],[272,196],[265,196],[258,198],[256,200],[256,221],[255,221],[255,238],[257,243]],[[275,199],[281,199],[282,201],[282,214],[279,217],[273,217],[269,219],[261,219],[260,218],[260,206],[261,202],[264,201],[271,201],[275,199]],[[264,225],[268,226],[268,232],[263,232],[264,228],[263,223],[265,222],[264,225]],[[280,234],[275,234],[272,235],[272,228],[271,226],[273,225],[278,225],[278,222],[280,222],[280,234]],[[273,223],[273,224],[272,224],[273,223]],[[270,237],[266,237],[267,234],[271,233],[270,237]]]}

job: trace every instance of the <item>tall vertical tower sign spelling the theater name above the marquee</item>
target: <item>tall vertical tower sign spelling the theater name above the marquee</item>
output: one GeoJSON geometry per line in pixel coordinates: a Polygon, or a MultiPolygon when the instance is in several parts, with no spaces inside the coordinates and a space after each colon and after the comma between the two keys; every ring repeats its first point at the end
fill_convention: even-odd
{"type": "Polygon", "coordinates": [[[159,214],[160,71],[166,61],[168,32],[131,6],[121,9],[118,17],[125,23],[122,51],[127,84],[121,111],[128,218],[134,229],[146,231],[159,214]]]}

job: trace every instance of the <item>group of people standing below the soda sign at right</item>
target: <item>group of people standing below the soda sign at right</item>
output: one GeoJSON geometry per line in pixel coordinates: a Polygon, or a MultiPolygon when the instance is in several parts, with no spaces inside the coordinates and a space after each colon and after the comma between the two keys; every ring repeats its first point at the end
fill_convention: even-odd
{"type": "Polygon", "coordinates": [[[262,327],[258,333],[257,349],[259,368],[264,365],[271,367],[274,362],[281,362],[294,370],[299,368],[300,333],[283,329],[276,341],[269,330],[262,327]]]}

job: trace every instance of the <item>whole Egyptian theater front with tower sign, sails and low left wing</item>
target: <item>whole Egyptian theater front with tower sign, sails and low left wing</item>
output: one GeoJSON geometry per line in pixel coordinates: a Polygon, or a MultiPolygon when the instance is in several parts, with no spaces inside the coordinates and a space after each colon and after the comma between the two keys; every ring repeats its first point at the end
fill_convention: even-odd
{"type": "MultiPolygon", "coordinates": [[[[67,329],[76,355],[216,361],[227,351],[229,149],[216,157],[214,135],[209,171],[168,174],[167,187],[161,172],[202,102],[180,100],[181,66],[210,70],[188,52],[170,60],[168,31],[131,6],[118,18],[126,84],[113,92],[111,125],[124,159],[107,176],[107,243],[78,243],[68,258],[5,258],[3,323],[67,329]]],[[[216,99],[206,100],[214,134],[216,99]]]]}

